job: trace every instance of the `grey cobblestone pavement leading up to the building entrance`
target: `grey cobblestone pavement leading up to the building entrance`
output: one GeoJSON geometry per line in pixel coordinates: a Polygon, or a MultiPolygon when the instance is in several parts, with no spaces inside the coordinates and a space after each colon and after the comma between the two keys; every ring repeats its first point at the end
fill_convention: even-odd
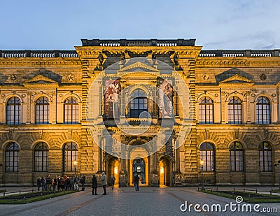
{"type": "MultiPolygon", "coordinates": [[[[246,213],[230,211],[195,212],[193,206],[200,204],[220,204],[222,208],[230,202],[237,204],[233,199],[197,192],[197,188],[156,188],[140,187],[135,192],[134,187],[108,188],[106,196],[92,196],[91,188],[85,191],[65,196],[55,197],[44,201],[28,203],[25,205],[0,205],[0,215],[279,215],[279,203],[261,203],[258,210],[263,208],[277,208],[277,213],[246,213]],[[187,210],[182,212],[180,206],[187,201],[187,210]],[[191,206],[193,205],[193,206],[191,206]]],[[[102,188],[97,193],[102,194],[102,188]]],[[[241,203],[242,205],[244,203],[241,203]]],[[[254,204],[251,204],[252,208],[254,204]]],[[[185,208],[182,206],[182,208],[185,208]]]]}

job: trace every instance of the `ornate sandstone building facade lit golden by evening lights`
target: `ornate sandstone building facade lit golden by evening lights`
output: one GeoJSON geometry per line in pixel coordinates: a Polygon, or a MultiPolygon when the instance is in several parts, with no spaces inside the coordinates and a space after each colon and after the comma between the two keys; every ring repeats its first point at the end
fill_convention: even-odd
{"type": "Polygon", "coordinates": [[[280,50],[75,49],[0,50],[0,185],[101,171],[120,186],[198,185],[202,168],[209,185],[278,183],[280,50]]]}

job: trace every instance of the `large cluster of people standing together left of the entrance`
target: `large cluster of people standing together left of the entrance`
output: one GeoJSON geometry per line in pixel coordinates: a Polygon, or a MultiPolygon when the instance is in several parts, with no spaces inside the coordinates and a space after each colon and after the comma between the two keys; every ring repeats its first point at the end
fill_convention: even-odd
{"type": "Polygon", "coordinates": [[[82,186],[82,190],[85,189],[85,175],[82,175],[78,178],[78,175],[74,175],[73,177],[69,177],[64,175],[64,177],[60,177],[55,175],[52,177],[50,174],[45,178],[45,176],[37,178],[37,187],[38,192],[42,187],[42,191],[62,191],[62,190],[78,190],[79,182],[82,186]]]}

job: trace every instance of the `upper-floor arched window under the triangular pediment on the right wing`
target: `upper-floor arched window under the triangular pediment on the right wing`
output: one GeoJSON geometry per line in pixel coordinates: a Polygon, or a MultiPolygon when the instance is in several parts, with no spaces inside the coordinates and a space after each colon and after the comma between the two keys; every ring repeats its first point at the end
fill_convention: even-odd
{"type": "Polygon", "coordinates": [[[228,123],[242,124],[242,103],[237,96],[232,96],[228,102],[228,123]]]}

